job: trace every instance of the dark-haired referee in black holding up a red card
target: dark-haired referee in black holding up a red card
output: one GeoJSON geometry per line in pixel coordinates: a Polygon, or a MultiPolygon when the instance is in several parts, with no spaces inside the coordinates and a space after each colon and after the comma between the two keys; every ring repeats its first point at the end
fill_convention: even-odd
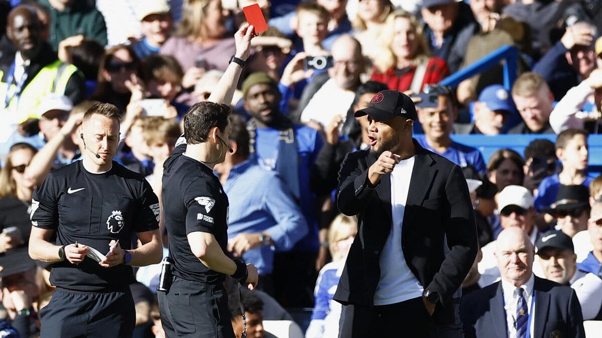
{"type": "MultiPolygon", "coordinates": [[[[213,174],[228,152],[230,102],[244,60],[249,56],[252,26],[235,33],[236,55],[209,100],[184,115],[178,140],[163,170],[163,209],[172,261],[170,284],[158,293],[166,337],[234,338],[223,282],[257,284],[257,268],[226,256],[228,197],[213,174]]],[[[163,277],[163,276],[162,276],[163,277]]]]}

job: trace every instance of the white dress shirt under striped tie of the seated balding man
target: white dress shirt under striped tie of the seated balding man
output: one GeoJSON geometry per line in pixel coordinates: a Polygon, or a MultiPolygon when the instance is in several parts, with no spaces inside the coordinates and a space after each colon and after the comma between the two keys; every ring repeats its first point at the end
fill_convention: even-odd
{"type": "MultiPolygon", "coordinates": [[[[529,314],[529,332],[530,337],[534,337],[533,332],[535,330],[535,302],[533,300],[533,284],[535,284],[535,275],[531,274],[531,278],[526,284],[521,285],[523,289],[523,297],[527,302],[527,313],[529,314]]],[[[514,338],[517,336],[517,329],[514,327],[517,316],[517,303],[518,297],[515,295],[514,290],[517,287],[509,281],[501,279],[501,290],[504,295],[504,310],[506,310],[506,323],[508,328],[508,337],[514,338]]]]}

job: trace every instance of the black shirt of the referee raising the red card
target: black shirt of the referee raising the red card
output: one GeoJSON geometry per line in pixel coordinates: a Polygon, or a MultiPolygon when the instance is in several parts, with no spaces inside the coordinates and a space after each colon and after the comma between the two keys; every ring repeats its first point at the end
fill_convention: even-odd
{"type": "Polygon", "coordinates": [[[163,214],[169,236],[173,275],[185,280],[219,283],[225,274],[207,268],[194,256],[188,233],[213,234],[226,252],[228,244],[228,197],[213,170],[203,162],[182,155],[183,137],[163,165],[163,214]]]}

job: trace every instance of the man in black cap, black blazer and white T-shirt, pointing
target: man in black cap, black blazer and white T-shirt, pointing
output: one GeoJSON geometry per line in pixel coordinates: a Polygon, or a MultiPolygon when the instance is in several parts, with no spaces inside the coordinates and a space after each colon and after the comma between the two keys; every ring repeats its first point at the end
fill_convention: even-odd
{"type": "Polygon", "coordinates": [[[334,296],[341,337],[463,337],[453,295],[477,254],[464,174],[412,138],[405,94],[380,91],[363,115],[370,150],[339,173],[338,207],[359,221],[334,296]]]}

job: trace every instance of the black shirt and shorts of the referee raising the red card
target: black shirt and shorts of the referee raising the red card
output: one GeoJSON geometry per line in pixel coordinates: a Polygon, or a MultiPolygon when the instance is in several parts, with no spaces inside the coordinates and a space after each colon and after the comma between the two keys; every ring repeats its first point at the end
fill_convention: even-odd
{"type": "Polygon", "coordinates": [[[213,234],[226,253],[228,197],[213,170],[182,155],[178,145],[164,164],[163,210],[172,260],[172,285],[159,292],[161,324],[169,337],[234,338],[225,274],[207,268],[194,256],[188,233],[213,234]]]}

